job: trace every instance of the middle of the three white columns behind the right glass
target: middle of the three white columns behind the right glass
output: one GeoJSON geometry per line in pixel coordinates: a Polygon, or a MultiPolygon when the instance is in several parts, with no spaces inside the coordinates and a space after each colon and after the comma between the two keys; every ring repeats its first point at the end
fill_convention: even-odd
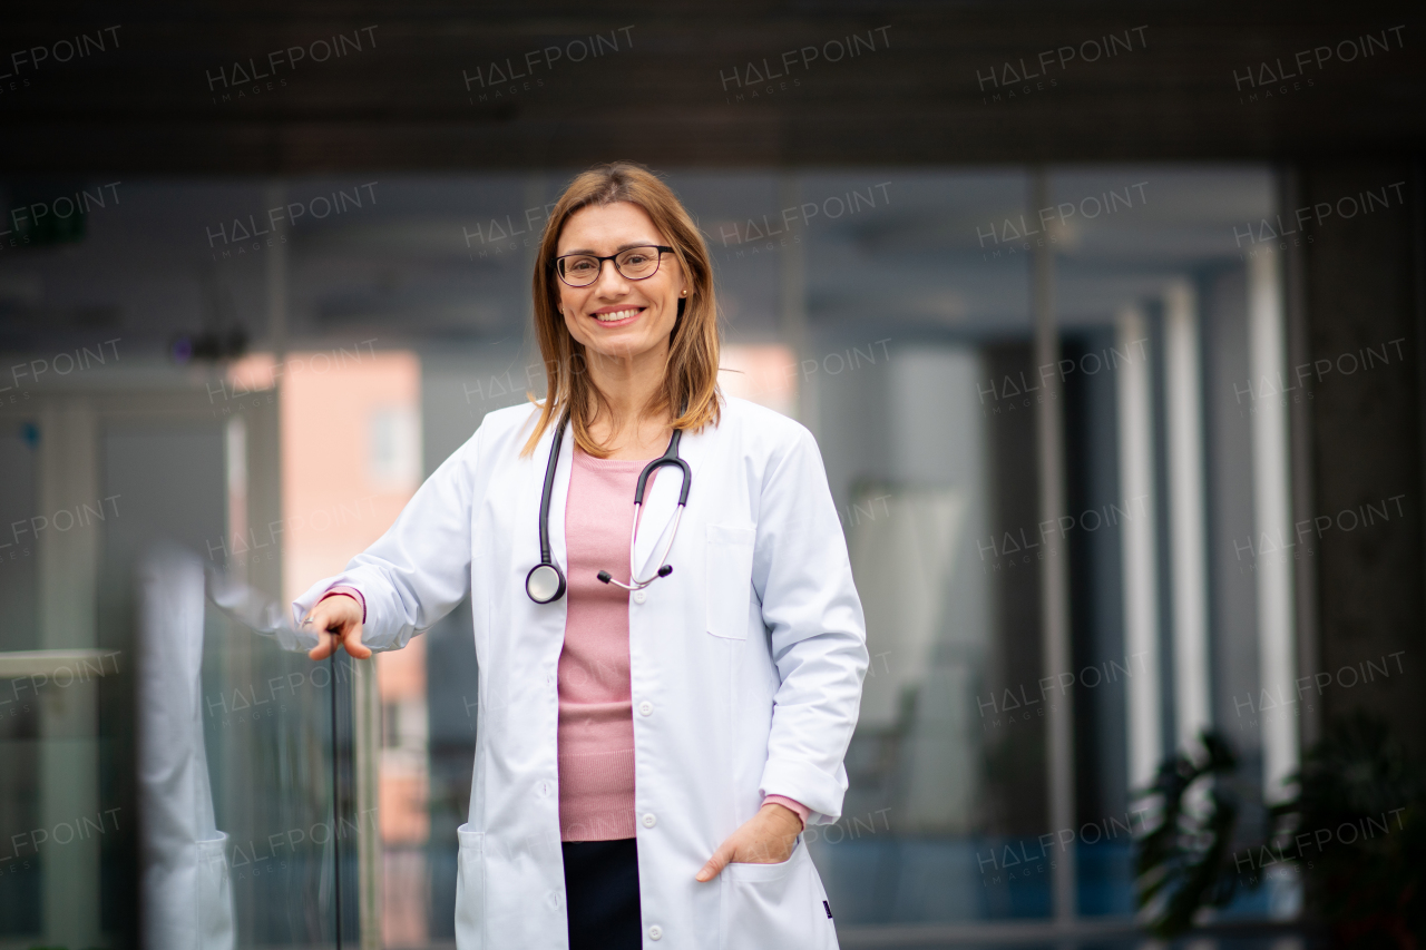
{"type": "Polygon", "coordinates": [[[1188,281],[1164,294],[1169,543],[1174,585],[1174,735],[1194,747],[1212,723],[1208,669],[1208,566],[1204,505],[1202,371],[1198,300],[1188,281]]]}

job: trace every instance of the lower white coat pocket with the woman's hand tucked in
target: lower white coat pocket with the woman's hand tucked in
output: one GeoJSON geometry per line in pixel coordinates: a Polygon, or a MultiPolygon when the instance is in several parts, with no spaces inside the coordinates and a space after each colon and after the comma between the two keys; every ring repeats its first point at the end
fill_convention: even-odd
{"type": "Polygon", "coordinates": [[[780,864],[723,869],[723,946],[727,950],[829,950],[837,931],[807,846],[797,839],[780,864]]]}

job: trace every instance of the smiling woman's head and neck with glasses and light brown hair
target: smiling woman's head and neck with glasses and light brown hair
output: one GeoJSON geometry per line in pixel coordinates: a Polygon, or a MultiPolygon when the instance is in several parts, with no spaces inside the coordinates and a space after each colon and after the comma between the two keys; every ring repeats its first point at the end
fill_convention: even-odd
{"type": "Polygon", "coordinates": [[[649,458],[670,429],[717,424],[713,268],[663,181],[632,163],[579,175],[549,217],[539,260],[535,332],[550,398],[526,454],[566,408],[595,458],[649,458]]]}

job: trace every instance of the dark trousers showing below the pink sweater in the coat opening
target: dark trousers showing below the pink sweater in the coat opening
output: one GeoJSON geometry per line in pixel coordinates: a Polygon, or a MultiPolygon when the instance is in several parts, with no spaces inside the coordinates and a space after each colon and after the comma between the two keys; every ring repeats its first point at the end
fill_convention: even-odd
{"type": "Polygon", "coordinates": [[[570,950],[639,950],[637,839],[562,842],[570,950]]]}

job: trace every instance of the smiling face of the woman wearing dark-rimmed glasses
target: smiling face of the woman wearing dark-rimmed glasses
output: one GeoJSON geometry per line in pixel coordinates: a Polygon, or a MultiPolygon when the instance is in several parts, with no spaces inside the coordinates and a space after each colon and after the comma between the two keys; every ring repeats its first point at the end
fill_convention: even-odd
{"type": "MultiPolygon", "coordinates": [[[[619,201],[572,214],[555,254],[609,257],[630,247],[660,244],[670,247],[645,210],[619,201]]],[[[660,254],[659,270],[643,280],[629,280],[613,261],[600,261],[599,277],[589,287],[570,287],[558,275],[555,285],[570,335],[588,351],[619,361],[662,354],[679,315],[679,300],[686,300],[690,290],[673,254],[660,254]]]]}

